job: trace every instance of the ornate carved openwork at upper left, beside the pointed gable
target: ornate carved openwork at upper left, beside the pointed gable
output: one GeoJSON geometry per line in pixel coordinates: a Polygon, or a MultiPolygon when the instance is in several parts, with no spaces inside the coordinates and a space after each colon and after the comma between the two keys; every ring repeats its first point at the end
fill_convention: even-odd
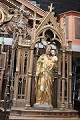
{"type": "Polygon", "coordinates": [[[20,10],[7,8],[5,11],[0,8],[0,33],[13,35],[13,39],[16,39],[20,44],[29,45],[31,28],[28,26],[28,17],[31,15],[29,12],[25,12],[24,9],[24,6],[20,10]],[[19,40],[19,36],[22,36],[22,39],[19,40]]]}

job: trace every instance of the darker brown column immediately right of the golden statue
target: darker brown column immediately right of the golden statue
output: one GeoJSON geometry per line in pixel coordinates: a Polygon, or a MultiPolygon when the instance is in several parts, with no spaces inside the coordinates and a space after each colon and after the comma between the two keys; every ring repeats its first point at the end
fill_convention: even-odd
{"type": "Polygon", "coordinates": [[[57,106],[60,107],[60,94],[61,94],[61,52],[58,57],[58,90],[57,90],[57,106]]]}

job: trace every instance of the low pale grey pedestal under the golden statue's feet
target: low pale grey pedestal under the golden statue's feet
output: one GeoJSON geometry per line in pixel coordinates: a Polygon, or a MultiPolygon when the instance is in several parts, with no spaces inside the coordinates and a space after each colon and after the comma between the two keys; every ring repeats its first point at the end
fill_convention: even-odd
{"type": "Polygon", "coordinates": [[[47,104],[47,103],[44,103],[44,104],[35,103],[35,104],[33,105],[33,107],[34,107],[35,109],[44,109],[44,110],[48,109],[48,110],[53,110],[53,106],[52,106],[52,105],[49,105],[49,104],[47,104]]]}

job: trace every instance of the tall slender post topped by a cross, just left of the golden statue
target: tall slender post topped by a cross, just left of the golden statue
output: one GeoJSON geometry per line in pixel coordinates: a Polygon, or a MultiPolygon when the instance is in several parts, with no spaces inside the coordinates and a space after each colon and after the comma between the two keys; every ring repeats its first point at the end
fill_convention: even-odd
{"type": "Polygon", "coordinates": [[[30,48],[26,108],[30,107],[31,79],[32,79],[33,57],[34,57],[34,42],[35,42],[35,36],[36,36],[36,27],[35,26],[36,26],[36,11],[34,12],[33,34],[32,34],[32,39],[31,39],[31,48],[30,48]]]}

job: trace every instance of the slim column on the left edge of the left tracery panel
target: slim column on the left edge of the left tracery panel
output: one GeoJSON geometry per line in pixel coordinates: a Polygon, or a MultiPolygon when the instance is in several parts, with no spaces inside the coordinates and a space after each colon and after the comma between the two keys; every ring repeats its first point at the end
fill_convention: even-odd
{"type": "Polygon", "coordinates": [[[18,48],[18,53],[17,53],[16,74],[14,81],[14,98],[13,98],[14,101],[17,100],[17,95],[18,95],[19,70],[20,70],[20,48],[18,48]]]}

